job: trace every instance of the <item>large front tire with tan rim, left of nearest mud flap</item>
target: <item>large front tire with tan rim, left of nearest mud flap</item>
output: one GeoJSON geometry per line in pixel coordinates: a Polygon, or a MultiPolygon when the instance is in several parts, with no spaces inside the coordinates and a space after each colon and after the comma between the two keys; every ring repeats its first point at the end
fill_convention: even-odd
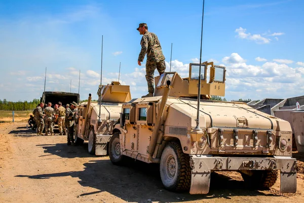
{"type": "Polygon", "coordinates": [[[161,157],[160,174],[164,187],[174,192],[188,191],[191,186],[190,157],[178,143],[169,143],[161,157]]]}

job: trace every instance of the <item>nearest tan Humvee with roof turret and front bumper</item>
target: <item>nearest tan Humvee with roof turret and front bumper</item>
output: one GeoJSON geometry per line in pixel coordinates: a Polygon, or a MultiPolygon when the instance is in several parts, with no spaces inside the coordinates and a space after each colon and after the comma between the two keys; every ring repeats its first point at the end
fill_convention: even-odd
{"type": "Polygon", "coordinates": [[[128,156],[160,163],[164,187],[175,192],[207,194],[215,171],[240,172],[255,188],[273,186],[280,171],[281,192],[295,192],[290,124],[245,103],[209,100],[224,96],[225,67],[201,66],[200,103],[200,64],[190,63],[187,78],[166,72],[155,78],[153,97],[122,106],[109,142],[111,162],[123,164],[128,156]]]}

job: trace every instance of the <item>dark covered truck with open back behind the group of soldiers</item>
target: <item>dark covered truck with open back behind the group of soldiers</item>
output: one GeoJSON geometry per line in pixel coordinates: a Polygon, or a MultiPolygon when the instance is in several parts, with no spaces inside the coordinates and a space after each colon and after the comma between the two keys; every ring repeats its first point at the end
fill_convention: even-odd
{"type": "Polygon", "coordinates": [[[71,92],[58,92],[58,91],[45,91],[42,93],[40,102],[51,102],[53,105],[58,104],[61,101],[62,105],[70,104],[72,101],[79,103],[79,94],[71,92]]]}

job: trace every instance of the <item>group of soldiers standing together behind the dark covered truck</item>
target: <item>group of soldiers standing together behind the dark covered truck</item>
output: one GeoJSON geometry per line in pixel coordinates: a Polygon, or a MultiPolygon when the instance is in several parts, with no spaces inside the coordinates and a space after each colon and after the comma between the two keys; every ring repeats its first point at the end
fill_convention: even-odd
{"type": "Polygon", "coordinates": [[[62,106],[61,101],[54,105],[52,103],[45,105],[40,103],[37,108],[33,110],[34,121],[37,124],[37,135],[48,136],[54,134],[53,126],[55,122],[58,123],[59,136],[67,135],[67,145],[74,145],[74,120],[77,119],[77,103],[73,101],[67,104],[65,108],[62,106]],[[45,129],[45,134],[43,130],[45,129]],[[66,133],[66,129],[68,133],[66,133]]]}

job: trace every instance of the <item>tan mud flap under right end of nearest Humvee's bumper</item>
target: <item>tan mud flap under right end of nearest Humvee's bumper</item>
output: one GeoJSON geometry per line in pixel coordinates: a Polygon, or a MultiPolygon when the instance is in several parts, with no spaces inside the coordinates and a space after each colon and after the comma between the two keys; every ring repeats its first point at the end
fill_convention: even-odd
{"type": "Polygon", "coordinates": [[[296,173],[281,172],[281,192],[296,192],[296,173]]]}

